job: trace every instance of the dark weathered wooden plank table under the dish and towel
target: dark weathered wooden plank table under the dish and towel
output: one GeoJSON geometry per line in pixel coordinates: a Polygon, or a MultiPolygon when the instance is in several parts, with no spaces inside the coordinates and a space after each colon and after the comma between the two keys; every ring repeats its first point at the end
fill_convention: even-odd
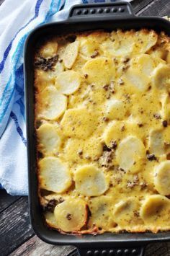
{"type": "MultiPolygon", "coordinates": [[[[132,5],[137,15],[170,16],[170,0],[135,0],[132,5]]],[[[0,256],[66,256],[73,249],[42,242],[30,226],[27,197],[0,190],[0,256]]],[[[170,256],[170,242],[149,244],[145,255],[170,256]]]]}

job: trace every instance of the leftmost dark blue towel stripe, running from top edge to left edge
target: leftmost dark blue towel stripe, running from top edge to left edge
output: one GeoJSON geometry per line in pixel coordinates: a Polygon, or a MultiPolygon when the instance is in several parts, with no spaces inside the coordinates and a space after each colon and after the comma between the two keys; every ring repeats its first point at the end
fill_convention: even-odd
{"type": "Polygon", "coordinates": [[[17,31],[17,33],[14,35],[14,38],[12,38],[12,41],[9,43],[8,47],[7,47],[6,50],[4,51],[4,56],[3,56],[3,59],[2,59],[2,61],[1,61],[1,63],[0,63],[0,74],[1,74],[1,71],[3,71],[3,69],[4,69],[4,64],[5,64],[6,58],[9,56],[9,52],[10,52],[10,50],[11,50],[11,48],[12,48],[12,43],[13,43],[14,39],[17,37],[18,33],[19,33],[21,30],[23,30],[25,27],[27,27],[27,25],[29,25],[30,22],[32,22],[32,20],[35,19],[35,18],[38,16],[38,14],[39,14],[39,9],[40,9],[40,5],[42,4],[42,1],[43,1],[43,0],[37,0],[37,4],[35,5],[35,16],[32,17],[32,18],[29,20],[29,22],[27,22],[26,25],[24,25],[23,27],[21,27],[21,28],[17,31]]]}

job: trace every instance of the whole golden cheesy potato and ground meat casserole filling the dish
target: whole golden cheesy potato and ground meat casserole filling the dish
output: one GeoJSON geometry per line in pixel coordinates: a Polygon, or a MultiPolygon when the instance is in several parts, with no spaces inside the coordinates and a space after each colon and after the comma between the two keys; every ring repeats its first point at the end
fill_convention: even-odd
{"type": "Polygon", "coordinates": [[[37,175],[48,226],[170,230],[169,95],[164,32],[82,32],[37,49],[37,175]]]}

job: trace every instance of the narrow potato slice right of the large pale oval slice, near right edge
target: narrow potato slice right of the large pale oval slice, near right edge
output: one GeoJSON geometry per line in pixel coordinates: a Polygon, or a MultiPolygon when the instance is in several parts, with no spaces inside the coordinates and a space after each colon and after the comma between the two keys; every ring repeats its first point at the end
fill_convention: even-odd
{"type": "Polygon", "coordinates": [[[161,156],[164,154],[164,138],[162,129],[153,129],[149,133],[148,149],[151,154],[161,156]]]}

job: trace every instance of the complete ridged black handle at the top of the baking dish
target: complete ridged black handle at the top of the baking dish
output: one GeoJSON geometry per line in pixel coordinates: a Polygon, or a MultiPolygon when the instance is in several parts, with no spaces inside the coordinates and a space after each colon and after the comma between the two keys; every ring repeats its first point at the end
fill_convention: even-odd
{"type": "Polygon", "coordinates": [[[68,19],[99,20],[110,18],[122,18],[134,16],[133,7],[128,2],[104,3],[104,4],[77,4],[71,7],[68,19]]]}

